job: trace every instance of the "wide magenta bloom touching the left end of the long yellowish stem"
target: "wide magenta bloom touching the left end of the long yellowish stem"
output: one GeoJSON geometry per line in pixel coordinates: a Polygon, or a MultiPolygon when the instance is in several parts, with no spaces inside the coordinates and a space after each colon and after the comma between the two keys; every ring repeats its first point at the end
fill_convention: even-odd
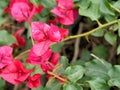
{"type": "Polygon", "coordinates": [[[51,42],[60,42],[68,35],[68,30],[58,28],[56,25],[50,26],[41,22],[32,22],[32,36],[35,41],[50,40],[51,42]]]}

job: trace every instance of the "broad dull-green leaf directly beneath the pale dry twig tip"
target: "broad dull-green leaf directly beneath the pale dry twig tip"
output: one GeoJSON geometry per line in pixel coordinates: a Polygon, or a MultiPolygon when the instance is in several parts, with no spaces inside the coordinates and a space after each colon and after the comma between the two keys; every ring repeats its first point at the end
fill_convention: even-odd
{"type": "Polygon", "coordinates": [[[108,70],[111,69],[112,65],[105,60],[99,61],[94,59],[85,64],[86,73],[85,76],[90,77],[92,79],[96,77],[103,78],[104,80],[108,80],[110,77],[108,76],[108,70]]]}

